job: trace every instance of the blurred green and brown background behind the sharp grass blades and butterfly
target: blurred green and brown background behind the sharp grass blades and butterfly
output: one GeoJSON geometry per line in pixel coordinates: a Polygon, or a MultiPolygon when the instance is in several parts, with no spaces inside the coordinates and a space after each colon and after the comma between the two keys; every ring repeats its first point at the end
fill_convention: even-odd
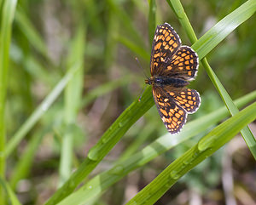
{"type": "MultiPolygon", "coordinates": [[[[198,38],[244,2],[182,1],[198,38]]],[[[172,25],[183,44],[191,45],[166,1],[156,1],[156,24],[164,22],[172,25]]],[[[255,89],[255,34],[254,17],[207,55],[234,100],[255,89]]],[[[150,75],[152,37],[148,36],[148,1],[19,1],[10,46],[7,140],[73,68],[74,62],[83,68],[74,87],[61,94],[9,157],[7,178],[22,204],[42,204],[61,184],[64,133],[72,133],[75,168],[119,114],[142,93],[143,72],[150,75]],[[67,122],[68,115],[73,120],[67,122]],[[26,156],[29,147],[31,152],[26,156]],[[23,165],[19,164],[22,157],[27,159],[23,165]]],[[[202,99],[201,108],[189,116],[189,121],[224,105],[202,66],[189,88],[199,91],[202,99]]],[[[255,123],[250,128],[255,134],[255,123]]],[[[93,174],[110,168],[120,156],[137,151],[162,134],[166,134],[166,128],[154,106],[131,127],[93,174]],[[140,140],[134,144],[137,138],[140,140]]],[[[127,202],[201,136],[132,172],[95,204],[127,202]]],[[[189,172],[156,204],[225,204],[223,179],[230,173],[237,204],[253,204],[247,202],[256,200],[255,170],[255,161],[239,136],[189,172]]]]}

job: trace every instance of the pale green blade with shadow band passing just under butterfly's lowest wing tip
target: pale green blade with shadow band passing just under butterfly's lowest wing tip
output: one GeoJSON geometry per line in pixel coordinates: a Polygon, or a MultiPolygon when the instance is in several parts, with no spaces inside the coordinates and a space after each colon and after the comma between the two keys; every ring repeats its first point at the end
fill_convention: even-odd
{"type": "MultiPolygon", "coordinates": [[[[256,91],[236,100],[236,105],[241,107],[255,99],[256,91]]],[[[79,191],[75,191],[70,196],[67,196],[67,198],[59,204],[65,205],[71,204],[72,202],[75,204],[84,204],[95,200],[96,197],[102,195],[111,185],[131,173],[132,170],[142,167],[145,163],[150,162],[155,157],[160,156],[175,145],[182,143],[184,140],[188,140],[196,134],[201,133],[201,131],[206,131],[207,128],[212,127],[214,124],[223,120],[224,117],[228,117],[228,115],[229,112],[223,106],[217,111],[212,111],[212,113],[209,113],[205,117],[200,117],[192,122],[188,122],[183,128],[183,132],[173,135],[172,140],[170,140],[170,134],[158,138],[153,143],[143,148],[142,151],[138,151],[136,154],[125,159],[125,161],[116,163],[110,170],[96,175],[96,177],[84,184],[79,191]]]]}

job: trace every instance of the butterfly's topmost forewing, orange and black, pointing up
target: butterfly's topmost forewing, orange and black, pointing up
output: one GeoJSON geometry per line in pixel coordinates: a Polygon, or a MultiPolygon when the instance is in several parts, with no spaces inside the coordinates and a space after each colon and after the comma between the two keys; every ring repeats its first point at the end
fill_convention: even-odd
{"type": "Polygon", "coordinates": [[[160,74],[166,68],[166,62],[172,59],[180,46],[180,38],[172,26],[167,23],[157,26],[150,58],[151,76],[160,74]]]}

